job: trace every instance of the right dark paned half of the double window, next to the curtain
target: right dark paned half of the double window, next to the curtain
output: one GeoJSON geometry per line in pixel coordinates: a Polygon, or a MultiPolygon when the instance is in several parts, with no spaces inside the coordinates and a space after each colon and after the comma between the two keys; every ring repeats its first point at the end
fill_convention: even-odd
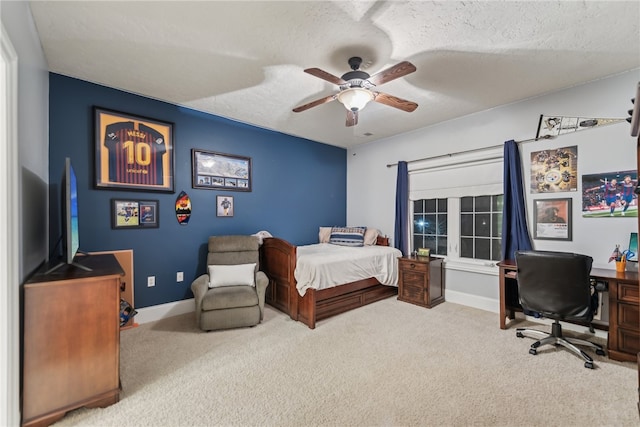
{"type": "Polygon", "coordinates": [[[502,195],[460,198],[460,257],[499,261],[502,195]]]}

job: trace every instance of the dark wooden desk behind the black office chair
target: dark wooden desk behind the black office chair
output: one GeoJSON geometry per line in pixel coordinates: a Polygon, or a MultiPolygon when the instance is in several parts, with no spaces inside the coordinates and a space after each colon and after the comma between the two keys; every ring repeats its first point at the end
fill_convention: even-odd
{"type": "MultiPolygon", "coordinates": [[[[515,319],[522,311],[518,299],[516,264],[513,260],[498,263],[500,268],[500,329],[506,329],[507,317],[515,319]]],[[[592,268],[591,277],[609,284],[609,319],[594,321],[593,326],[608,330],[607,351],[614,360],[635,361],[640,352],[640,291],[638,273],[592,268]]]]}

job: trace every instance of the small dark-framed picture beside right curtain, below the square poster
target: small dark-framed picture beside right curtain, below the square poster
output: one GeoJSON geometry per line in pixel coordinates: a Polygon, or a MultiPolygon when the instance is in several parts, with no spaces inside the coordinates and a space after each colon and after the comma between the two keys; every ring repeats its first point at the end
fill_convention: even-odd
{"type": "Polygon", "coordinates": [[[567,198],[533,201],[534,239],[571,240],[571,200],[567,198]]]}

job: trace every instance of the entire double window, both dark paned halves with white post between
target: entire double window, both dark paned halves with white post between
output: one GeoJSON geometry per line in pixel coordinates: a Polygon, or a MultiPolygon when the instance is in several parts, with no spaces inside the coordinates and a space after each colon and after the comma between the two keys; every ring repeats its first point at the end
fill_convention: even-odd
{"type": "Polygon", "coordinates": [[[501,194],[413,202],[414,251],[429,248],[433,255],[499,261],[501,246],[501,194]]]}

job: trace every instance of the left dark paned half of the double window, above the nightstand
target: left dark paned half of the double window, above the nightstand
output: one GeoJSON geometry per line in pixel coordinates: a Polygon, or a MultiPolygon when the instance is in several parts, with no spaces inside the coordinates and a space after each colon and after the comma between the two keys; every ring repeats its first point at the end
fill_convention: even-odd
{"type": "Polygon", "coordinates": [[[434,255],[447,254],[447,199],[413,202],[413,250],[429,248],[434,255]]]}

